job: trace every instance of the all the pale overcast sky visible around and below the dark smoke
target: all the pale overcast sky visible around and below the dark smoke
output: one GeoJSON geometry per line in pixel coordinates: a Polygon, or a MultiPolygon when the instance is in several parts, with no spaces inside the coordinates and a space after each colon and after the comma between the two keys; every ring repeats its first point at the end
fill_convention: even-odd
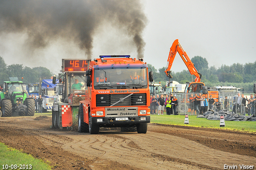
{"type": "MultiPolygon", "coordinates": [[[[256,0],[142,0],[141,3],[147,17],[142,32],[146,42],[144,61],[155,68],[166,67],[170,47],[176,39],[190,58],[206,58],[208,66],[218,68],[222,64],[230,66],[256,61],[256,0]]],[[[104,23],[94,32],[92,58],[106,54],[137,57],[130,37],[118,28],[104,23]],[[118,43],[115,50],[110,48],[114,43],[118,43]]],[[[6,64],[42,66],[58,74],[61,58],[86,58],[77,44],[62,38],[32,54],[23,53],[27,38],[26,32],[1,32],[0,56],[6,64]]],[[[186,69],[177,54],[171,70],[186,69]]]]}

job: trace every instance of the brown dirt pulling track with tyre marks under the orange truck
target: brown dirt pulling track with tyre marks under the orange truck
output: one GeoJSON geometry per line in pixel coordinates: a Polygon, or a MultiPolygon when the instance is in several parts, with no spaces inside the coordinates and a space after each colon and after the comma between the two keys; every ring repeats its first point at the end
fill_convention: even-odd
{"type": "Polygon", "coordinates": [[[256,169],[256,134],[149,124],[146,134],[102,130],[90,135],[51,129],[52,119],[0,118],[0,142],[66,170],[256,169]]]}

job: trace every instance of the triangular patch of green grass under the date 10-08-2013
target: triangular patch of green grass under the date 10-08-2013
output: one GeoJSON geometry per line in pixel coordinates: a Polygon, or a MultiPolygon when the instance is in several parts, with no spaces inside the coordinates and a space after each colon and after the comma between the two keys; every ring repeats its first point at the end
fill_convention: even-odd
{"type": "Polygon", "coordinates": [[[0,169],[51,170],[51,167],[42,160],[35,159],[14,148],[9,148],[0,142],[0,169]]]}

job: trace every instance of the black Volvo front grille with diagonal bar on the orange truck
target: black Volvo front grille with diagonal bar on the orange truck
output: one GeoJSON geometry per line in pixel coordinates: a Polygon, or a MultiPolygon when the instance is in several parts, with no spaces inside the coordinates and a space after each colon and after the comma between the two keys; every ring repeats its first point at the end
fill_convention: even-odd
{"type": "Polygon", "coordinates": [[[130,94],[97,94],[96,106],[146,106],[146,93],[128,95],[130,94]]]}

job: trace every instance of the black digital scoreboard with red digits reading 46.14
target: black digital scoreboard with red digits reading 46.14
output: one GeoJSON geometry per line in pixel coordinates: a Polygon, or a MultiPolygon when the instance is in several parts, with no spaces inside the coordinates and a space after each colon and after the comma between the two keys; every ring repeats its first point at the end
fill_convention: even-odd
{"type": "Polygon", "coordinates": [[[85,72],[91,59],[62,59],[62,72],[85,72]]]}

